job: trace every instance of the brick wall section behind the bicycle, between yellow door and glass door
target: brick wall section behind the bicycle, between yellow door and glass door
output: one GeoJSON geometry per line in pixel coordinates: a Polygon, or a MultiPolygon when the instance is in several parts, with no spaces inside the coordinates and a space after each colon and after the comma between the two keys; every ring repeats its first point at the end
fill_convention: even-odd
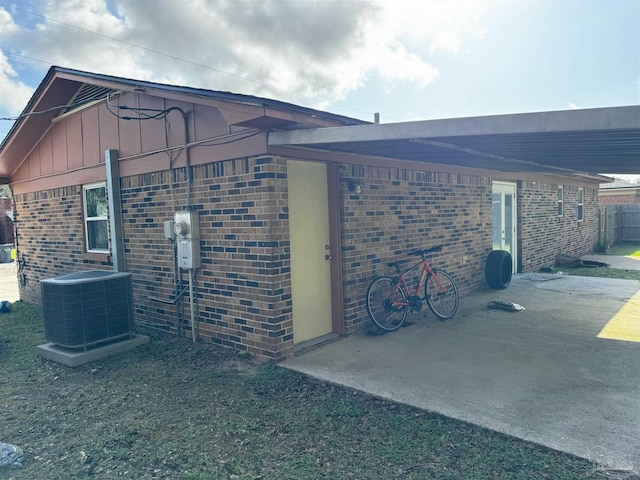
{"type": "MultiPolygon", "coordinates": [[[[390,261],[444,245],[433,265],[451,273],[461,294],[484,283],[491,250],[491,183],[477,176],[397,168],[341,168],[342,259],[346,331],[367,320],[364,296],[375,275],[393,272],[390,261]],[[359,195],[349,181],[363,182],[359,195]]],[[[411,263],[407,263],[411,265],[411,263]]]]}

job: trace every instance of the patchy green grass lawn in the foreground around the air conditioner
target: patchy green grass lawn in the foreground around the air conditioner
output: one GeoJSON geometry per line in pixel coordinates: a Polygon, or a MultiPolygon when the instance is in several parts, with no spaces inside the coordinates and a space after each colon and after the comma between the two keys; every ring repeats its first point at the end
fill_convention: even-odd
{"type": "MultiPolygon", "coordinates": [[[[0,314],[0,441],[24,479],[611,478],[587,460],[147,332],[77,368],[43,360],[39,308],[0,314]]],[[[3,476],[6,475],[6,476],[3,476]]]]}

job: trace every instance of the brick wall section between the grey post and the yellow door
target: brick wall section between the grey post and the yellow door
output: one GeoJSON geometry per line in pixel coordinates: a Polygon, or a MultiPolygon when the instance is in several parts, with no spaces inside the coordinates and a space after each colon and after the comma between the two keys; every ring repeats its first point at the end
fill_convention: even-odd
{"type": "MultiPolygon", "coordinates": [[[[122,179],[127,269],[140,322],[178,328],[175,308],[149,297],[175,297],[172,242],[163,222],[186,201],[185,170],[122,179]]],[[[293,348],[286,162],[230,160],[193,169],[192,208],[200,214],[198,335],[277,361],[293,348]]],[[[183,284],[188,274],[183,272],[183,284]]],[[[184,325],[190,331],[189,302],[184,325]]],[[[190,335],[190,333],[189,333],[190,335]]]]}

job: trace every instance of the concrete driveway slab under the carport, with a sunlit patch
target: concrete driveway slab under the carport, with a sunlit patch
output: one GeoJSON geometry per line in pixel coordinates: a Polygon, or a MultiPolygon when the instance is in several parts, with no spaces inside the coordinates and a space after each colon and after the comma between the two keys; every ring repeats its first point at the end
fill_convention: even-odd
{"type": "Polygon", "coordinates": [[[515,275],[506,290],[463,297],[452,320],[424,310],[413,318],[397,332],[357,332],[280,365],[640,470],[640,282],[515,275]],[[526,310],[488,309],[491,300],[526,310]],[[599,338],[608,324],[613,338],[599,338]]]}

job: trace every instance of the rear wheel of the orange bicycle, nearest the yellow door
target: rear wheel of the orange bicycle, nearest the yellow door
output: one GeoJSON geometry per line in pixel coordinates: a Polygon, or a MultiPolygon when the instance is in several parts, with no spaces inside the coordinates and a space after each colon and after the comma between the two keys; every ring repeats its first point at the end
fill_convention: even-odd
{"type": "Polygon", "coordinates": [[[395,278],[380,277],[371,282],[366,302],[371,321],[387,332],[400,328],[407,318],[407,296],[395,278]]]}

